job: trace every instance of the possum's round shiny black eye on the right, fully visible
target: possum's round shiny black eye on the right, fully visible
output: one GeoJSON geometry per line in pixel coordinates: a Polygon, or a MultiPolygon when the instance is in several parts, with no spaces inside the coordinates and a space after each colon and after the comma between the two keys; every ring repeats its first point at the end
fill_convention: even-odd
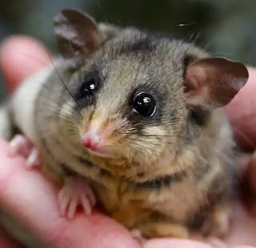
{"type": "Polygon", "coordinates": [[[134,110],[142,116],[154,116],[156,102],[154,97],[147,93],[140,93],[134,97],[134,110]]]}

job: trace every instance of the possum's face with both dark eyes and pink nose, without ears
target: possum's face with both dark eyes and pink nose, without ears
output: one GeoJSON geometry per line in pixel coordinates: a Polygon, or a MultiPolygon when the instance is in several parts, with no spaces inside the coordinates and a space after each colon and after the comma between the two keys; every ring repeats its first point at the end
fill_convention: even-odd
{"type": "Polygon", "coordinates": [[[72,78],[77,104],[70,118],[79,119],[77,139],[86,149],[129,160],[176,149],[187,109],[184,53],[174,55],[175,45],[148,37],[109,41],[72,78]]]}

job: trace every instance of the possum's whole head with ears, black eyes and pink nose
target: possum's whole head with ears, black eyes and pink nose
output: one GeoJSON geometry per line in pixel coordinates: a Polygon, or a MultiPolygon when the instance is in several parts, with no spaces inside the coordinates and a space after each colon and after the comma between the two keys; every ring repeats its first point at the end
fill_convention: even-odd
{"type": "Polygon", "coordinates": [[[138,30],[99,41],[104,34],[90,18],[68,11],[62,12],[68,22],[78,14],[89,26],[92,35],[84,45],[91,52],[79,49],[79,42],[74,42],[71,49],[78,50],[72,53],[70,44],[60,45],[66,57],[78,54],[75,62],[82,61],[68,84],[74,108],[60,123],[73,130],[70,140],[94,155],[147,163],[166,151],[175,153],[188,124],[203,125],[194,109],[210,112],[228,103],[246,82],[242,64],[204,58],[205,53],[182,41],[138,30]],[[84,62],[83,57],[90,58],[84,62]]]}

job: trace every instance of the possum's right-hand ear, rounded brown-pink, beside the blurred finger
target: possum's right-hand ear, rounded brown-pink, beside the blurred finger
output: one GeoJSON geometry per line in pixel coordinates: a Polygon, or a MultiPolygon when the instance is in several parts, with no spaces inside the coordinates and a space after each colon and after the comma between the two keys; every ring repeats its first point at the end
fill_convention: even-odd
{"type": "Polygon", "coordinates": [[[222,107],[246,84],[249,73],[239,62],[210,57],[192,62],[186,68],[185,92],[192,105],[222,107]]]}

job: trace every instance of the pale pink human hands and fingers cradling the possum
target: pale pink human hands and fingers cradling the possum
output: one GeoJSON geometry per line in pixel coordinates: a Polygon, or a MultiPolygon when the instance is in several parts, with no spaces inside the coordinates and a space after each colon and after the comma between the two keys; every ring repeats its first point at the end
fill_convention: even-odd
{"type": "MultiPolygon", "coordinates": [[[[30,37],[10,37],[2,43],[0,66],[10,93],[24,77],[49,63],[49,53],[38,41],[30,37]]],[[[251,142],[256,144],[256,129],[254,128],[256,126],[256,99],[253,93],[256,90],[256,69],[250,68],[249,70],[250,80],[246,87],[226,108],[234,128],[244,134],[238,138],[245,147],[248,147],[251,142]]],[[[90,216],[78,214],[73,220],[62,218],[58,212],[58,187],[49,179],[45,179],[39,171],[27,171],[24,167],[25,159],[22,157],[12,159],[8,157],[7,148],[6,141],[0,140],[0,204],[32,230],[38,238],[57,248],[139,247],[128,230],[99,211],[93,211],[90,216]]],[[[249,159],[242,160],[243,167],[248,161],[249,159]]],[[[256,194],[256,155],[250,163],[248,175],[250,175],[249,180],[256,194]]],[[[235,206],[234,222],[226,238],[226,245],[240,248],[256,246],[255,231],[256,218],[247,213],[238,203],[235,206]]],[[[1,230],[1,227],[0,246],[21,247],[14,243],[1,230]]],[[[211,246],[204,241],[195,242],[174,238],[154,239],[147,241],[144,245],[144,248],[167,247],[210,248],[211,246]]]]}

